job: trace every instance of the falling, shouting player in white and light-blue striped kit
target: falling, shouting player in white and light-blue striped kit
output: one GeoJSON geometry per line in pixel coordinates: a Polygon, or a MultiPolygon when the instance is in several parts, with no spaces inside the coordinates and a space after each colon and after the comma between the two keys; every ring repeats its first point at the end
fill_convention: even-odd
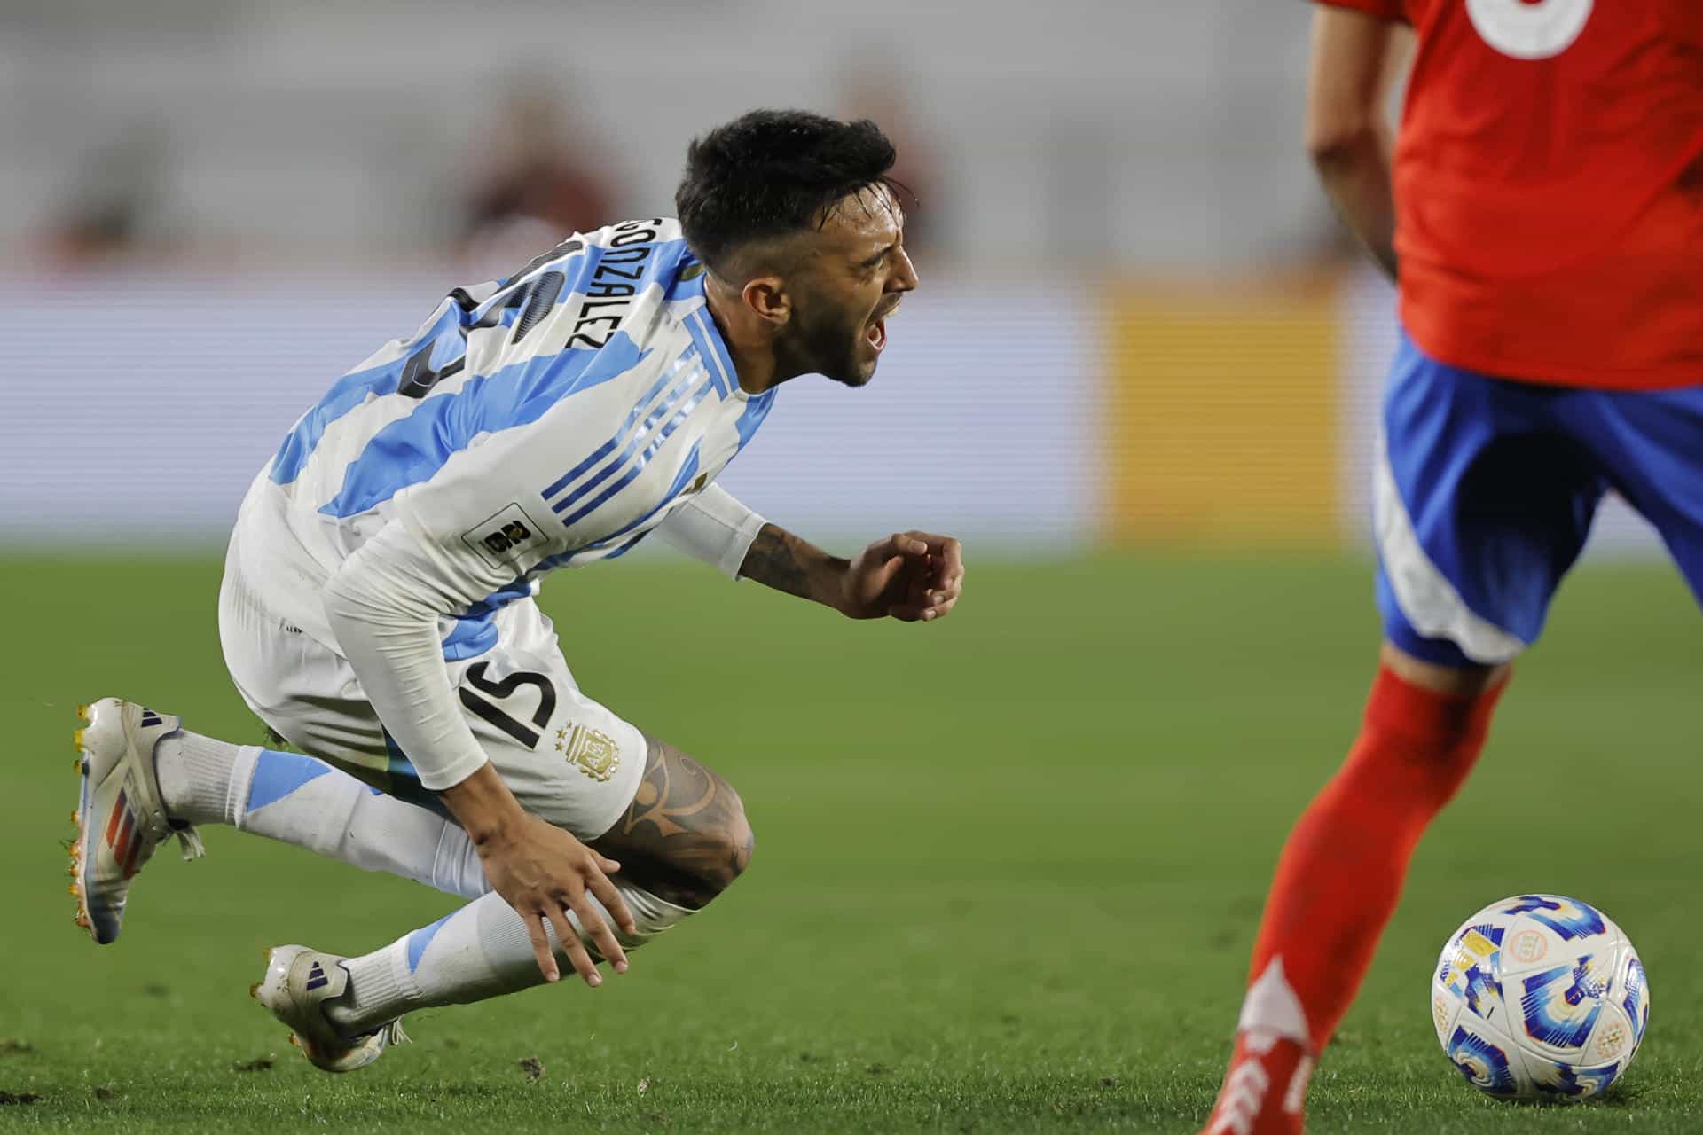
{"type": "Polygon", "coordinates": [[[470,900],[388,946],[278,946],[255,995],[332,1072],[404,1012],[557,980],[720,893],[751,858],[734,790],[586,698],[538,577],[656,533],[850,618],[952,611],[959,543],[826,555],[714,485],[799,374],[862,386],[916,272],[869,121],[758,111],[686,157],[679,221],[574,235],[455,289],[310,408],[237,517],[220,590],[244,701],[298,752],[83,711],[78,922],[119,936],[131,878],[199,824],[470,900]]]}

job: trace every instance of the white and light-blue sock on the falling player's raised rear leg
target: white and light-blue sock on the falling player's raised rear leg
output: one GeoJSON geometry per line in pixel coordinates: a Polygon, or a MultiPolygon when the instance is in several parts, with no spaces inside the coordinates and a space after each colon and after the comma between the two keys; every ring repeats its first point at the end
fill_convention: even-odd
{"type": "Polygon", "coordinates": [[[155,769],[172,818],[235,824],[463,898],[490,888],[460,827],[315,757],[184,732],[158,744],[155,769]]]}

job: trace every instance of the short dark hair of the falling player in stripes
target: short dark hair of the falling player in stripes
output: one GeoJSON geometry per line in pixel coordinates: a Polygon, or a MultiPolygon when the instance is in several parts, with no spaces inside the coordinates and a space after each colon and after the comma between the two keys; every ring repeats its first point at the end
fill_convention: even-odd
{"type": "Polygon", "coordinates": [[[845,197],[891,185],[894,157],[869,119],[751,111],[691,143],[674,209],[691,252],[725,271],[741,247],[816,228],[845,197]]]}

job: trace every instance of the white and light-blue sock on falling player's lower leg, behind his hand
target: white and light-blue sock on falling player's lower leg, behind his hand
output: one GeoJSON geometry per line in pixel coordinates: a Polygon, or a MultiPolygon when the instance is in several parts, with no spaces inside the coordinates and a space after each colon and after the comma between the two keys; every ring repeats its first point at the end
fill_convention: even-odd
{"type": "MultiPolygon", "coordinates": [[[[691,914],[620,880],[615,880],[615,888],[639,929],[630,936],[616,931],[625,950],[637,950],[691,914]]],[[[608,917],[601,905],[598,912],[608,917]]],[[[569,919],[577,931],[579,919],[569,919]]],[[[608,922],[615,924],[613,919],[608,922]]],[[[564,980],[572,977],[553,929],[550,944],[555,946],[564,980]]],[[[325,1016],[351,1036],[370,1033],[414,1009],[485,1001],[543,984],[526,924],[494,892],[381,950],[349,958],[344,968],[349,970],[349,992],[327,1004],[325,1016]]]]}

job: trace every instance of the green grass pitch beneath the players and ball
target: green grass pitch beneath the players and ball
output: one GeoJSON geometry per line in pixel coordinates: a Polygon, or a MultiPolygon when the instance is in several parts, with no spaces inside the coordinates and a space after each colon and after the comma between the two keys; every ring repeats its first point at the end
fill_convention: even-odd
{"type": "MultiPolygon", "coordinates": [[[[334,1079],[249,999],[261,950],[368,950],[453,900],[216,829],[206,859],[150,864],[118,944],[72,926],[78,701],[261,739],[216,580],[213,555],[0,560],[0,1128],[1196,1132],[1274,856],[1354,735],[1376,643],[1352,560],[971,548],[962,606],[928,628],[666,562],[557,577],[581,684],[739,786],[753,868],[605,989],[422,1012],[414,1045],[334,1079]]],[[[1662,567],[1568,584],[1420,847],[1313,1132],[1703,1130],[1698,642],[1662,567]],[[1432,1036],[1444,936],[1526,888],[1603,905],[1649,967],[1649,1040],[1601,1103],[1490,1103],[1432,1036]]]]}

